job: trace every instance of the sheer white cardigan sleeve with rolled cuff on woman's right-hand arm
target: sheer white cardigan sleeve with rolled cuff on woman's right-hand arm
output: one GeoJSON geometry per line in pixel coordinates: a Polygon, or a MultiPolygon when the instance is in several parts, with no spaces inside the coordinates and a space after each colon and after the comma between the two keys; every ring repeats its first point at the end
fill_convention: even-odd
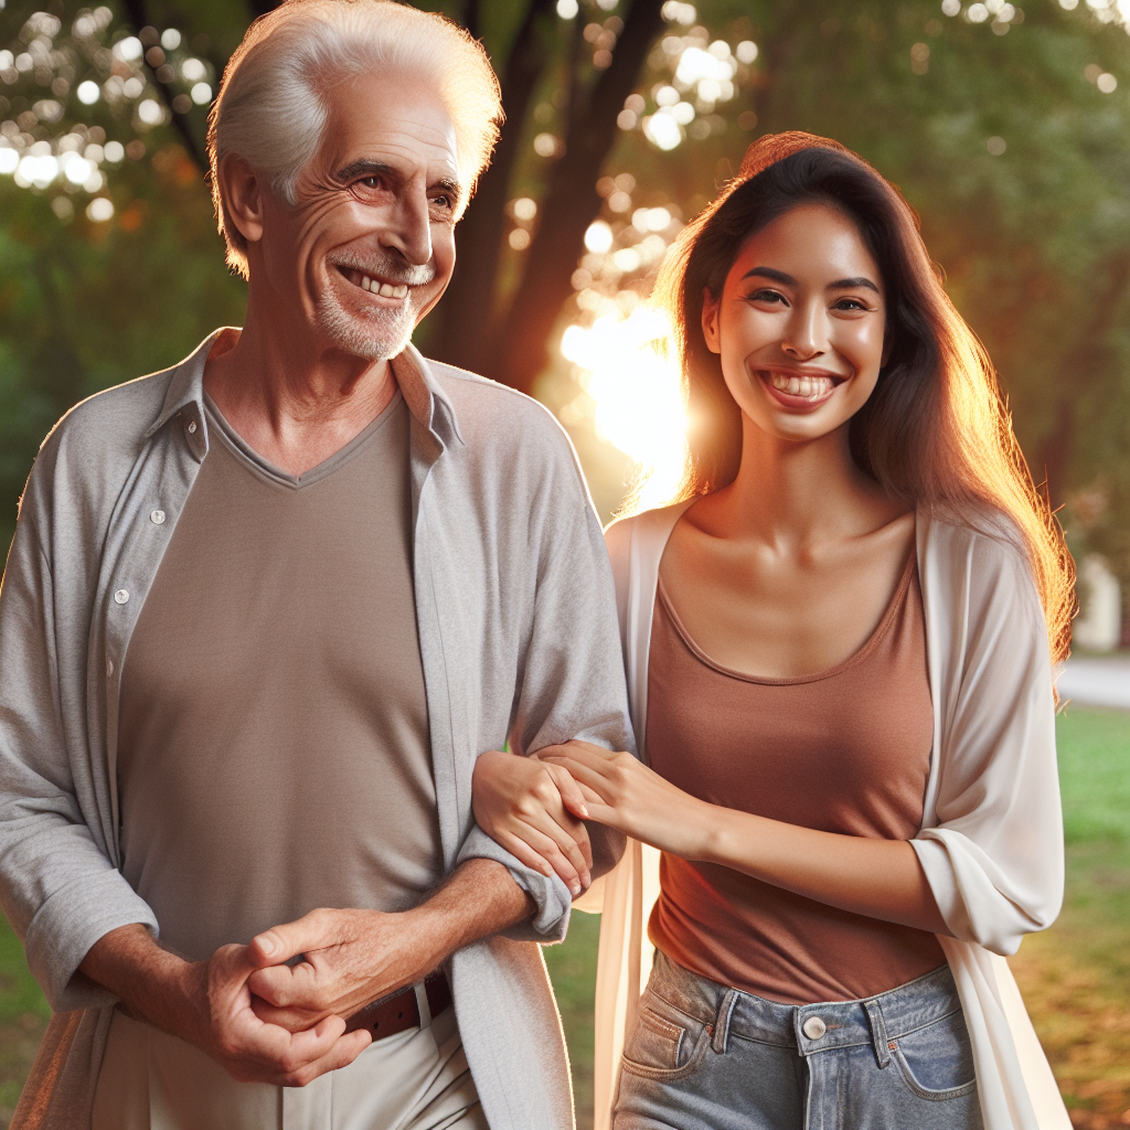
{"type": "Polygon", "coordinates": [[[912,846],[953,936],[1008,955],[1051,925],[1063,897],[1043,611],[1006,541],[938,523],[924,548],[939,764],[912,846]]]}

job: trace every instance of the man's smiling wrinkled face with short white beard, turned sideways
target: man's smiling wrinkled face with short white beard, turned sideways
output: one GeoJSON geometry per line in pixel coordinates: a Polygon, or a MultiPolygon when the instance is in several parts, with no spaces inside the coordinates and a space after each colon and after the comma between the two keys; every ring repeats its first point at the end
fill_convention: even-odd
{"type": "Polygon", "coordinates": [[[394,357],[455,266],[466,189],[454,125],[416,76],[363,76],[325,102],[322,144],[296,202],[263,201],[262,289],[325,346],[394,357]]]}

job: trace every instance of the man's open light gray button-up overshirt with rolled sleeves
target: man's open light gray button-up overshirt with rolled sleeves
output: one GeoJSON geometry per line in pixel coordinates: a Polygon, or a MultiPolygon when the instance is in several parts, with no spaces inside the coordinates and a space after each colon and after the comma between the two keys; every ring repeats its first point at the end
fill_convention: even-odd
{"type": "MultiPolygon", "coordinates": [[[[14,1127],[89,1124],[114,998],[78,965],[118,927],[158,932],[118,869],[119,677],[208,450],[212,340],[72,409],[21,499],[0,589],[0,903],[55,1015],[14,1127]]],[[[567,1059],[530,942],[564,937],[570,895],[478,829],[471,772],[507,738],[516,751],[570,738],[634,749],[608,557],[572,446],[544,408],[411,347],[394,372],[412,415],[416,614],[444,863],[496,859],[537,903],[528,923],[452,958],[460,1029],[493,1130],[565,1130],[567,1059]]]]}

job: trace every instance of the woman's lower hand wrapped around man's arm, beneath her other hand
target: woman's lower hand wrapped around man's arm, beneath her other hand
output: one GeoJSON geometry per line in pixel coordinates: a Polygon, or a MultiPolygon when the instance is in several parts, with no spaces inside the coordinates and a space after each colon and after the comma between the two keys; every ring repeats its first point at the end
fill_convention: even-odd
{"type": "MultiPolygon", "coordinates": [[[[565,747],[554,747],[565,748],[565,747]]],[[[519,862],[556,872],[576,897],[592,881],[589,816],[581,788],[560,765],[494,749],[475,763],[475,819],[519,862]]]]}

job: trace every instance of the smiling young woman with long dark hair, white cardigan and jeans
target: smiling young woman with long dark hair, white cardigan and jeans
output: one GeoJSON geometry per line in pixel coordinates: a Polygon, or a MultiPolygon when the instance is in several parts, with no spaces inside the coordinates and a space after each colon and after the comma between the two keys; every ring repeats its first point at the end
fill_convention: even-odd
{"type": "MultiPolygon", "coordinates": [[[[686,487],[607,533],[641,759],[539,755],[662,852],[638,1002],[637,845],[606,885],[612,1124],[1067,1128],[991,955],[1062,895],[1072,571],[988,357],[897,191],[807,134],[750,147],[657,290],[686,487]]],[[[479,823],[575,880],[531,772],[480,759],[479,823]]]]}

